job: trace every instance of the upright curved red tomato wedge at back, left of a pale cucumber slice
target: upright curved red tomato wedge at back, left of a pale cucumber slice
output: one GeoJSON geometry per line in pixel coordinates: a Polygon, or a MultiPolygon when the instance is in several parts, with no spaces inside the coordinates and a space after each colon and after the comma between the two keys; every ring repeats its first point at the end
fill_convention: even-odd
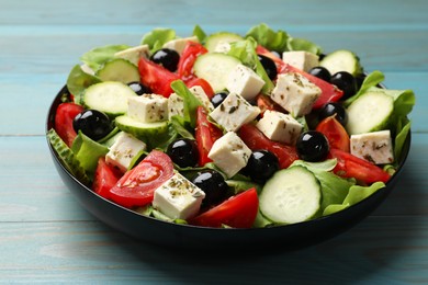
{"type": "Polygon", "coordinates": [[[188,42],[177,67],[177,73],[183,81],[194,78],[193,65],[200,55],[206,54],[209,50],[201,44],[188,42]]]}

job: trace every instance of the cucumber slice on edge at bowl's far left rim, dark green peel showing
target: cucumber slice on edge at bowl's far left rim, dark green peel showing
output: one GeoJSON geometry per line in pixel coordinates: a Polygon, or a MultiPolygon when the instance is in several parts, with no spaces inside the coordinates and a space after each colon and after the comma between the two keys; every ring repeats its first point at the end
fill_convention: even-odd
{"type": "Polygon", "coordinates": [[[63,166],[76,179],[88,186],[90,184],[90,180],[71,149],[63,141],[55,129],[50,128],[46,135],[55,152],[58,155],[59,160],[63,162],[63,166]]]}

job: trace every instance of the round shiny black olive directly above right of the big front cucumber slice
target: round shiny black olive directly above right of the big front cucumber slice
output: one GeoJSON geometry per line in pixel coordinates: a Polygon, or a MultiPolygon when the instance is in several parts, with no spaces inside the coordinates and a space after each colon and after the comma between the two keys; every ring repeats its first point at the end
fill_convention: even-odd
{"type": "Polygon", "coordinates": [[[307,130],[300,135],[296,141],[296,150],[300,159],[316,162],[327,158],[329,145],[322,133],[307,130]]]}

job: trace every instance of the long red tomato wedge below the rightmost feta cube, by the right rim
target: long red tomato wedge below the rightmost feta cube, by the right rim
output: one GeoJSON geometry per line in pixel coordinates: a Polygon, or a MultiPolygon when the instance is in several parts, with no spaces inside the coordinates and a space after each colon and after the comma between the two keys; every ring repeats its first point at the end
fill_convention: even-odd
{"type": "Polygon", "coordinates": [[[333,171],[339,176],[356,178],[365,184],[376,181],[387,182],[391,178],[387,172],[378,166],[340,149],[330,149],[329,156],[337,159],[336,168],[333,171]]]}

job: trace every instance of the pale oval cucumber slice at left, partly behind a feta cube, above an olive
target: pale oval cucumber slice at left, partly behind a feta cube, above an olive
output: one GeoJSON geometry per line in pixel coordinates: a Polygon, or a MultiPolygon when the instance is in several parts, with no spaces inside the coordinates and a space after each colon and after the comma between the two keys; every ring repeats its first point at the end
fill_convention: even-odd
{"type": "Polygon", "coordinates": [[[83,104],[87,109],[104,112],[109,116],[123,115],[127,111],[127,99],[137,94],[126,84],[105,81],[85,90],[83,104]]]}

